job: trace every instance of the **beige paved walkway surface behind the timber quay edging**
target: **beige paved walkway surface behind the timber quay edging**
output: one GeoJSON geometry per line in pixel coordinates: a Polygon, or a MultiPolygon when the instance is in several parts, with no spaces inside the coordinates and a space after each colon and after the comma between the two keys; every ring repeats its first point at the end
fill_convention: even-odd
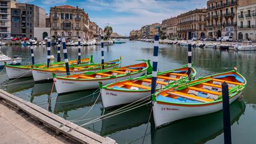
{"type": "Polygon", "coordinates": [[[75,143],[0,100],[0,144],[75,143]]]}

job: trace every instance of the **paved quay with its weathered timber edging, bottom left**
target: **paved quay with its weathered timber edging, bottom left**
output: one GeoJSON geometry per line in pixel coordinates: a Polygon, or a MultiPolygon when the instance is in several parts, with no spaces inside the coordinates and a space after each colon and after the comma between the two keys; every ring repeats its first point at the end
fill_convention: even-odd
{"type": "Polygon", "coordinates": [[[0,99],[0,143],[116,144],[4,90],[0,99]]]}

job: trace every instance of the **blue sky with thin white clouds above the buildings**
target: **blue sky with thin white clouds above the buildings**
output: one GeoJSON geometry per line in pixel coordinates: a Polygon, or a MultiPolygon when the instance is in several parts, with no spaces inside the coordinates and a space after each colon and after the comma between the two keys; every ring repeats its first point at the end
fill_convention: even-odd
{"type": "Polygon", "coordinates": [[[129,35],[143,25],[161,23],[163,19],[207,6],[207,0],[17,0],[35,4],[49,13],[54,6],[70,5],[85,9],[89,19],[101,28],[108,25],[113,32],[129,35]]]}

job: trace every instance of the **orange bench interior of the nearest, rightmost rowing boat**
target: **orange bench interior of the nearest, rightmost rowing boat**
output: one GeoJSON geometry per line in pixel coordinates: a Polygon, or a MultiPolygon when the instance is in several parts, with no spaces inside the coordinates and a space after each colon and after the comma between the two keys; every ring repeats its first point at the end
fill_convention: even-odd
{"type": "MultiPolygon", "coordinates": [[[[228,72],[220,75],[228,75],[228,74],[237,75],[235,72],[228,72]]],[[[220,76],[220,75],[214,75],[213,77],[220,76]]],[[[173,99],[186,98],[187,100],[200,101],[202,103],[206,103],[206,102],[218,100],[219,96],[222,95],[221,84],[223,82],[228,83],[229,90],[233,87],[236,87],[236,85],[244,85],[244,83],[237,81],[235,77],[224,77],[224,78],[213,78],[213,77],[207,77],[200,80],[196,80],[194,82],[210,79],[207,82],[198,83],[197,85],[187,87],[184,90],[174,90],[175,88],[171,88],[169,90],[161,91],[159,95],[166,96],[173,99]]]]}

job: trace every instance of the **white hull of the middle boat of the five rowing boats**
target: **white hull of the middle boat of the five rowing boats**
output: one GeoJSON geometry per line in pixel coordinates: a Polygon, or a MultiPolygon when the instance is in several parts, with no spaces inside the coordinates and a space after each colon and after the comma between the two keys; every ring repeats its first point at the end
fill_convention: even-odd
{"type": "MultiPolygon", "coordinates": [[[[117,77],[117,78],[108,78],[100,80],[103,85],[107,85],[109,83],[113,83],[119,80],[126,80],[127,78],[134,78],[140,77],[144,75],[147,71],[139,72],[138,74],[134,75],[126,75],[124,77],[117,77]]],[[[93,88],[99,88],[99,80],[72,80],[66,78],[56,78],[55,87],[57,93],[68,93],[71,91],[80,91],[80,90],[90,90],[93,88]]]]}

